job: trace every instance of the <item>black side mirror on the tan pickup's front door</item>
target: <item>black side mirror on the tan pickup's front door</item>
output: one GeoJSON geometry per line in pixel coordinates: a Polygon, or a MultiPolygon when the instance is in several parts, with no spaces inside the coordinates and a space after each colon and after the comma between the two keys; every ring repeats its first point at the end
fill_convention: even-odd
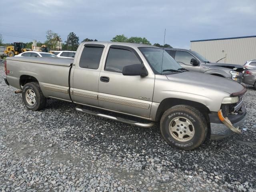
{"type": "Polygon", "coordinates": [[[143,64],[124,66],[122,74],[126,76],[148,76],[148,72],[143,64]]]}

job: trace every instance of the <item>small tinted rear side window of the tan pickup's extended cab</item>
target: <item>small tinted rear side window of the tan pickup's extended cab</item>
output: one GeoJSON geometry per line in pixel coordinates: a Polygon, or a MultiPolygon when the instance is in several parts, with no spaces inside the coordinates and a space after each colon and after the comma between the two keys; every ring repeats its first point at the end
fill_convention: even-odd
{"type": "Polygon", "coordinates": [[[79,66],[88,69],[98,69],[104,47],[85,46],[80,57],[79,66]]]}

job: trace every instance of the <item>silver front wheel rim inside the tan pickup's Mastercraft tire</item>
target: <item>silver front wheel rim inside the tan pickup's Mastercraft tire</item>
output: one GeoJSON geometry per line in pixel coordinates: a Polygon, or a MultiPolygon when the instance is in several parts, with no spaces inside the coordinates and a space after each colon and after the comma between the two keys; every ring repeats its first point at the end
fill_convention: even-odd
{"type": "Polygon", "coordinates": [[[195,129],[187,118],[176,117],[169,124],[169,132],[174,139],[180,142],[186,142],[193,138],[195,129]]]}

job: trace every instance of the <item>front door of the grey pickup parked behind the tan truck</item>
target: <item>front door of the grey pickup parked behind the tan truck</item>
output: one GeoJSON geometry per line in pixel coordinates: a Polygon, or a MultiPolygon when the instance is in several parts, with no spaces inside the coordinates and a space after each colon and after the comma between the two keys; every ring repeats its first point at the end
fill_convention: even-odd
{"type": "Polygon", "coordinates": [[[194,65],[190,64],[190,61],[193,58],[196,59],[189,52],[176,51],[174,59],[176,60],[176,62],[178,62],[180,64],[180,66],[182,66],[186,70],[200,72],[200,61],[198,61],[198,59],[196,59],[199,63],[198,66],[194,66],[194,65]]]}

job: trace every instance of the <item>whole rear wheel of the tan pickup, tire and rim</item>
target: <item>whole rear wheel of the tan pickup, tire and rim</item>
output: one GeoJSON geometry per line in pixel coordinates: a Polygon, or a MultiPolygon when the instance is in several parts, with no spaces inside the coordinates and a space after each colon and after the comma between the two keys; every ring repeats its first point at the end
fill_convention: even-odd
{"type": "Polygon", "coordinates": [[[46,98],[37,82],[30,82],[23,86],[22,100],[26,108],[32,111],[40,110],[46,105],[46,98]]]}

